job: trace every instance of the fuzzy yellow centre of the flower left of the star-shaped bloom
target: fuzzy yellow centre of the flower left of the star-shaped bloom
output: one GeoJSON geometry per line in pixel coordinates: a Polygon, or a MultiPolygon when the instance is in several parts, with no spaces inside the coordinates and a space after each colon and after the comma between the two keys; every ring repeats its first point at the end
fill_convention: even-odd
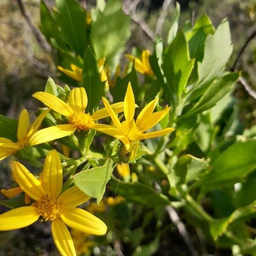
{"type": "Polygon", "coordinates": [[[94,121],[90,114],[79,111],[70,116],[69,123],[70,125],[74,125],[76,129],[80,131],[90,130],[91,126],[94,124],[94,121]]]}

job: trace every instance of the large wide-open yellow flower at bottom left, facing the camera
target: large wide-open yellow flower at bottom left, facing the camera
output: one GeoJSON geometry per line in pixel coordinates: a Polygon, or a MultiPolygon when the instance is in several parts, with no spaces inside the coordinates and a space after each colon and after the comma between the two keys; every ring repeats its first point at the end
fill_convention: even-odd
{"type": "Polygon", "coordinates": [[[49,151],[41,181],[19,162],[12,167],[15,180],[23,191],[34,199],[30,206],[12,209],[0,215],[0,230],[26,227],[41,216],[52,221],[52,236],[62,256],[75,256],[76,251],[67,226],[84,233],[104,235],[107,226],[97,217],[76,206],[90,197],[76,186],[61,193],[62,169],[57,151],[49,151]]]}

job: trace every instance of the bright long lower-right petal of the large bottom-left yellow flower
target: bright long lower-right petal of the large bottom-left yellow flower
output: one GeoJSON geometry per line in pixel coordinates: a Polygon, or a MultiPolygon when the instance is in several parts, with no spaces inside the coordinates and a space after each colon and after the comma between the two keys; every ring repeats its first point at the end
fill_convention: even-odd
{"type": "Polygon", "coordinates": [[[75,230],[93,235],[105,235],[107,226],[99,218],[79,208],[68,208],[61,212],[61,219],[75,230]]]}

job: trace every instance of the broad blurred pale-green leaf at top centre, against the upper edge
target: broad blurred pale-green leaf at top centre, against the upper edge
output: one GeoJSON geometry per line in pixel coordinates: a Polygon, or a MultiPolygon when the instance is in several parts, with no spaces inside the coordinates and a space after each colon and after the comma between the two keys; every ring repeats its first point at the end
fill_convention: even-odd
{"type": "Polygon", "coordinates": [[[109,0],[103,12],[92,21],[91,41],[97,60],[113,64],[130,37],[130,17],[122,11],[121,0],[109,0]]]}

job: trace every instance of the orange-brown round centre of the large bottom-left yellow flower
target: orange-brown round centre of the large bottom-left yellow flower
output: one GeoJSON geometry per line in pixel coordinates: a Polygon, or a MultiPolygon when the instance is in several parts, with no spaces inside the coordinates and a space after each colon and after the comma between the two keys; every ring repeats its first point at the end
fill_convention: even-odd
{"type": "Polygon", "coordinates": [[[42,201],[37,201],[38,213],[46,220],[53,221],[61,215],[62,207],[56,198],[46,197],[42,201]]]}

